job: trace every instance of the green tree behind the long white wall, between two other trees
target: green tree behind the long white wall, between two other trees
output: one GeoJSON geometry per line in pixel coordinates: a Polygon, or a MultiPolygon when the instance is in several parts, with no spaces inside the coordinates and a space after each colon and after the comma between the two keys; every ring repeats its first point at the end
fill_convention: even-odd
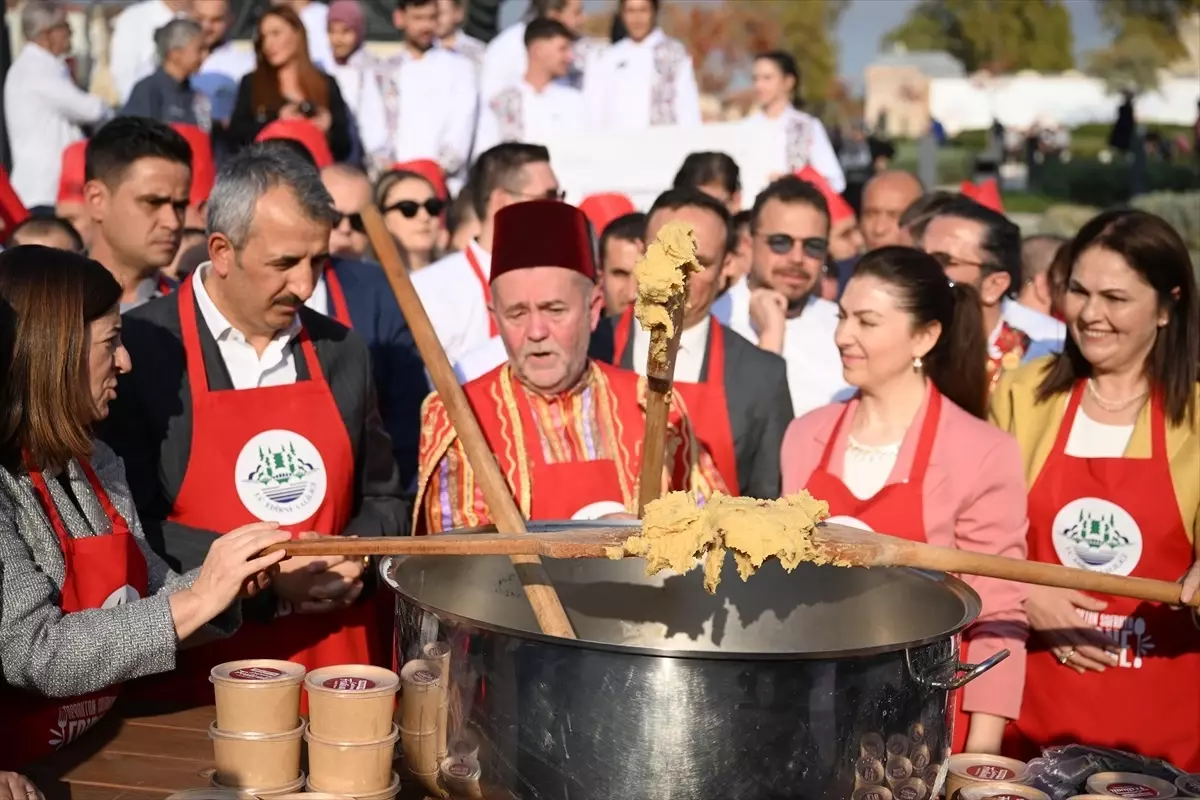
{"type": "Polygon", "coordinates": [[[968,72],[1061,72],[1074,66],[1070,12],[1063,0],[920,0],[884,43],[943,50],[968,72]]]}

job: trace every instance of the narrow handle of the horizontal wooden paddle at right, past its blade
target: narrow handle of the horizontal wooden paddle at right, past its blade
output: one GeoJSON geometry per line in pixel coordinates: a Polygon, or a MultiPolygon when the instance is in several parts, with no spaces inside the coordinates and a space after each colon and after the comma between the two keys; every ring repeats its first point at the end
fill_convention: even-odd
{"type": "MultiPolygon", "coordinates": [[[[1091,570],[1076,570],[1058,564],[1022,561],[1002,555],[973,553],[952,547],[935,547],[922,542],[905,542],[894,548],[893,563],[920,570],[976,575],[985,578],[1002,578],[1042,587],[1097,591],[1136,600],[1180,604],[1180,584],[1148,578],[1127,578],[1091,570]]],[[[1200,595],[1189,606],[1200,608],[1200,595]]]]}

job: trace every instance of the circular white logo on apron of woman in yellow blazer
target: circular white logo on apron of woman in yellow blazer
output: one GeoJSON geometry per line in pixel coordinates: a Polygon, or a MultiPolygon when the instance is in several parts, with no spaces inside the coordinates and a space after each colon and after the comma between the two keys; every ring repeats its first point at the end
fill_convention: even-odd
{"type": "Polygon", "coordinates": [[[1054,518],[1055,553],[1067,565],[1127,576],[1141,560],[1141,529],[1129,512],[1100,498],[1080,498],[1054,518]]]}

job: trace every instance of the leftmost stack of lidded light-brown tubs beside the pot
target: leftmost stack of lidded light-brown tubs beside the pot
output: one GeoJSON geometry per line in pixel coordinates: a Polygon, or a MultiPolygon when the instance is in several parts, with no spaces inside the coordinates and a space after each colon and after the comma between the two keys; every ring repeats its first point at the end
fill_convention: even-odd
{"type": "Polygon", "coordinates": [[[217,664],[209,673],[217,718],[209,728],[212,784],[257,795],[304,788],[300,771],[305,669],[290,661],[256,658],[217,664]]]}

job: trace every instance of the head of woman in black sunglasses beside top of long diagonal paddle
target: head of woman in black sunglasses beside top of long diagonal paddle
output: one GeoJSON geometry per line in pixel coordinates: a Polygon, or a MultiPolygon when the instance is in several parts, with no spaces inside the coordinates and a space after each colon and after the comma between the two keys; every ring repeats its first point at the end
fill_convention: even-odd
{"type": "Polygon", "coordinates": [[[428,178],[407,169],[384,173],[376,184],[374,200],[409,271],[424,270],[442,258],[438,245],[446,204],[428,178]]]}

